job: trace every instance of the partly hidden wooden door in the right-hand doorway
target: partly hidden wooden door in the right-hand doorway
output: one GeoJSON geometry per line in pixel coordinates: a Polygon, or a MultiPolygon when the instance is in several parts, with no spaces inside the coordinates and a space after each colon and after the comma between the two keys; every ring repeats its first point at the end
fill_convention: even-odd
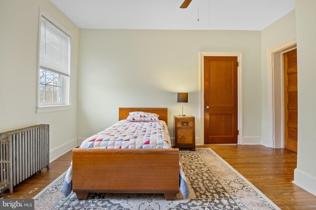
{"type": "Polygon", "coordinates": [[[284,148],[297,152],[297,51],[284,53],[284,148]]]}

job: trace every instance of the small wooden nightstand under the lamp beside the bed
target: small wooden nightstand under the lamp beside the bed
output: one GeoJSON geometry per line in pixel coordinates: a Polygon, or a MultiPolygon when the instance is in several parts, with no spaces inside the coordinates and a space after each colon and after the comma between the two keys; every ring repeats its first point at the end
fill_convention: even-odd
{"type": "Polygon", "coordinates": [[[196,150],[195,118],[194,116],[173,116],[174,147],[196,150]]]}

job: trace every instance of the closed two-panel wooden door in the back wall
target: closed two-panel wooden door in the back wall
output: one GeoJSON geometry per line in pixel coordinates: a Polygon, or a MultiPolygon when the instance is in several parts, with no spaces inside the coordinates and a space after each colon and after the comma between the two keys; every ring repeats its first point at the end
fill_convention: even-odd
{"type": "Polygon", "coordinates": [[[204,57],[204,144],[237,144],[237,57],[204,57]]]}

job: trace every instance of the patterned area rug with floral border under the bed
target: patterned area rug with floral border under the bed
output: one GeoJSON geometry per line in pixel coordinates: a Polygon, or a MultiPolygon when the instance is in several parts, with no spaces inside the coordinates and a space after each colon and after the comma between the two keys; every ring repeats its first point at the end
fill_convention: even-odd
{"type": "Polygon", "coordinates": [[[75,193],[61,193],[65,174],[43,189],[35,199],[36,210],[279,210],[262,192],[209,148],[180,150],[180,162],[190,187],[184,199],[166,201],[163,194],[89,193],[78,200],[75,193]]]}

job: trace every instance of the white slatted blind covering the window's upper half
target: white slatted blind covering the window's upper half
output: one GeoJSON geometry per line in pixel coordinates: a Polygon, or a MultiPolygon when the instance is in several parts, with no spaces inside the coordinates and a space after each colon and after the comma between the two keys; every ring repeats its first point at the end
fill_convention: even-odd
{"type": "Polygon", "coordinates": [[[70,36],[44,17],[40,25],[40,66],[69,76],[70,36]]]}

